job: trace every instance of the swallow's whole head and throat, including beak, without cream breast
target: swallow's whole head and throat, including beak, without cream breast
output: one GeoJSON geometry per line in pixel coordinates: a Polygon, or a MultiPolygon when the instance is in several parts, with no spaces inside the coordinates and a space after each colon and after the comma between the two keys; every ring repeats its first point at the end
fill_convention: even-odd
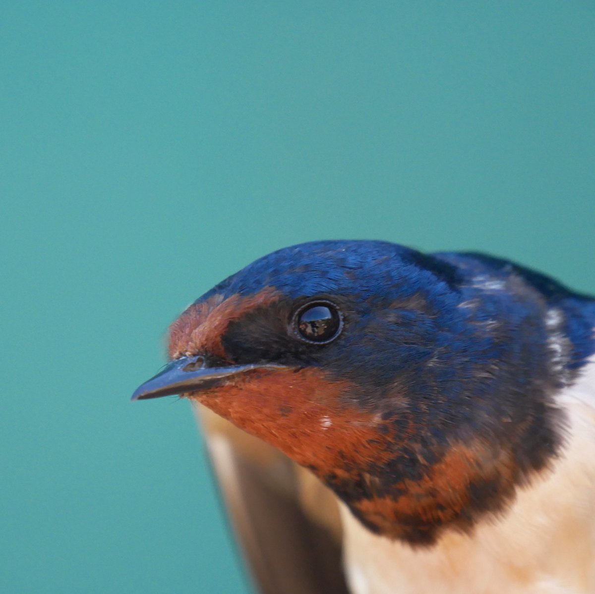
{"type": "Polygon", "coordinates": [[[570,373],[563,315],[549,328],[536,287],[486,266],[376,241],[279,250],[181,314],[133,398],[211,408],[389,538],[471,530],[555,457],[570,373]]]}

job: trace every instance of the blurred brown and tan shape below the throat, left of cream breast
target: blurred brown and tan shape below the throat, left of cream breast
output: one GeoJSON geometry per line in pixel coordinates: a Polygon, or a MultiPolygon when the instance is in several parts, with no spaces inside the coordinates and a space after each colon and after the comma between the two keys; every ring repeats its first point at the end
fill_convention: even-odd
{"type": "Polygon", "coordinates": [[[337,501],[276,448],[196,405],[243,556],[262,594],[348,594],[337,501]]]}

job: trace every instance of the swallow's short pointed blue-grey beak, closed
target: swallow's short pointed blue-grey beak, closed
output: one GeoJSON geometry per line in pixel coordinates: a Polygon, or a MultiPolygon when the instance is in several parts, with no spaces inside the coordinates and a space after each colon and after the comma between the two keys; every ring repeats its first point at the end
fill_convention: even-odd
{"type": "Polygon", "coordinates": [[[204,357],[180,357],[165,366],[157,375],[140,385],[131,400],[148,400],[160,396],[195,392],[224,384],[228,379],[254,369],[289,369],[273,363],[251,363],[229,367],[205,367],[204,357]]]}

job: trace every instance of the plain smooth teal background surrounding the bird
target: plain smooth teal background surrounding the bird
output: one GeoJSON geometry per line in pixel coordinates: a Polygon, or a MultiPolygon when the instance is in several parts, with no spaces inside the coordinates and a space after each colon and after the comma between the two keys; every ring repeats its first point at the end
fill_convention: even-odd
{"type": "Polygon", "coordinates": [[[382,238],[595,293],[590,2],[2,2],[0,591],[245,593],[165,328],[382,238]]]}

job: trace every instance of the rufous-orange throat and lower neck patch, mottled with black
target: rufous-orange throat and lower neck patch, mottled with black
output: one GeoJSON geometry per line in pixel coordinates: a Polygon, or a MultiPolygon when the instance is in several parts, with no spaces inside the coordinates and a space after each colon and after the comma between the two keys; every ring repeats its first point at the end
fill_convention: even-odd
{"type": "Polygon", "coordinates": [[[316,370],[254,379],[203,391],[200,401],[312,470],[368,530],[428,545],[445,527],[468,529],[512,496],[510,449],[480,440],[428,448],[413,422],[338,407],[349,386],[324,385],[316,370]]]}

